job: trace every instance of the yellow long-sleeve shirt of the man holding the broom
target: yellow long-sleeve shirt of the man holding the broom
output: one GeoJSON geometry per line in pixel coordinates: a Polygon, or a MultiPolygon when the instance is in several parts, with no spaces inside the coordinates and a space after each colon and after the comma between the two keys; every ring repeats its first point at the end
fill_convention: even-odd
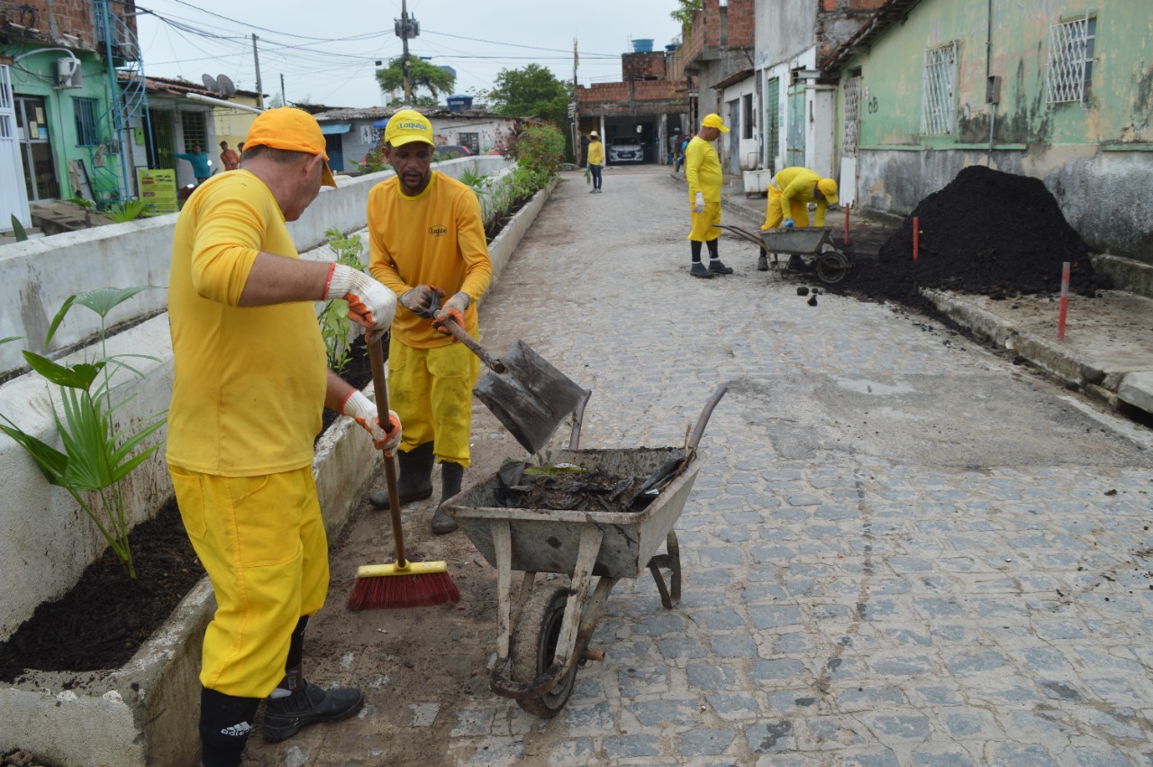
{"type": "Polygon", "coordinates": [[[272,191],[248,171],[199,186],[172,242],[169,464],[256,476],[312,463],[327,385],[310,301],[240,307],[261,251],[297,258],[272,191]]]}

